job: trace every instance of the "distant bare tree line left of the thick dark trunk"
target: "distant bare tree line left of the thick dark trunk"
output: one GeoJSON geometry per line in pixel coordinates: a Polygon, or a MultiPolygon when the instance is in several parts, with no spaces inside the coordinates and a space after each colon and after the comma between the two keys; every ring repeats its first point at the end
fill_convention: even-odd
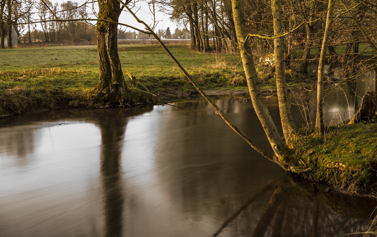
{"type": "MultiPolygon", "coordinates": [[[[23,43],[95,41],[95,26],[77,20],[88,15],[86,5],[72,1],[0,0],[0,48],[5,47],[5,39],[11,39],[12,27],[20,35],[17,40],[23,43]]],[[[12,40],[7,41],[11,48],[12,40]]]]}

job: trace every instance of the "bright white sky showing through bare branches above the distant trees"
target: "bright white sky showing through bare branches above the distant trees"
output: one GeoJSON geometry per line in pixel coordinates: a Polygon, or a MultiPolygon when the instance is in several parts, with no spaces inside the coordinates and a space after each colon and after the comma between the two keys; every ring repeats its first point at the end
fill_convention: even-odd
{"type": "MultiPolygon", "coordinates": [[[[67,2],[67,0],[50,0],[52,3],[63,3],[63,2],[67,2]]],[[[83,0],[71,0],[72,2],[78,2],[79,4],[80,3],[83,3],[84,1],[83,0]]],[[[92,6],[91,4],[88,5],[88,6],[92,6]]],[[[146,23],[148,24],[152,24],[153,23],[153,14],[150,12],[149,10],[149,6],[147,4],[146,1],[139,1],[136,5],[138,8],[140,8],[136,15],[140,18],[140,20],[143,20],[145,21],[146,23]]],[[[94,7],[95,7],[95,10],[98,11],[98,5],[97,3],[94,3],[94,7]]],[[[156,21],[158,21],[157,23],[157,26],[156,26],[156,30],[157,29],[166,29],[166,28],[170,28],[170,31],[171,32],[174,32],[175,28],[177,27],[177,24],[176,23],[173,23],[170,19],[169,19],[169,15],[166,15],[162,12],[159,12],[158,11],[158,6],[156,6],[156,21]]],[[[134,8],[134,10],[136,11],[137,9],[134,8]]],[[[88,10],[89,11],[89,10],[88,10]]],[[[139,29],[144,29],[143,25],[139,24],[136,22],[136,20],[132,17],[132,15],[126,11],[123,11],[119,17],[119,22],[120,23],[123,23],[123,24],[128,24],[128,25],[131,25],[133,27],[136,27],[136,28],[139,28],[139,29]]],[[[133,31],[133,29],[126,29],[125,26],[122,26],[121,29],[123,30],[126,30],[126,31],[133,31]]]]}

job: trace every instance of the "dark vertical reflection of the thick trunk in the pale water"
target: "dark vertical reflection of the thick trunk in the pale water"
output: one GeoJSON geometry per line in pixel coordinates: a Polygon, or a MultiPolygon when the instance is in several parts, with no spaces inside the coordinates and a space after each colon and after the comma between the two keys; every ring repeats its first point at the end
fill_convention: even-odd
{"type": "Polygon", "coordinates": [[[130,117],[149,112],[153,109],[134,109],[127,111],[127,116],[121,110],[113,116],[100,116],[102,118],[95,124],[101,130],[101,180],[104,195],[105,232],[107,237],[123,235],[126,217],[123,216],[124,208],[124,182],[122,180],[121,155],[124,144],[127,121],[130,117]]]}

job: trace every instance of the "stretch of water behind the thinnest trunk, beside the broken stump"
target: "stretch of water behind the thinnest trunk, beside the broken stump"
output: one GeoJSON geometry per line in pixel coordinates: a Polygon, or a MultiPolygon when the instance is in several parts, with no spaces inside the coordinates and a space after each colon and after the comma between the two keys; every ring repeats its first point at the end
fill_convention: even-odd
{"type": "MultiPolygon", "coordinates": [[[[317,64],[311,63],[308,70],[316,72],[317,64]]],[[[369,90],[376,91],[375,70],[344,68],[336,64],[325,65],[327,81],[324,93],[323,115],[326,124],[338,124],[351,119],[361,106],[363,95],[369,90]],[[344,81],[348,81],[344,83],[344,81]]],[[[301,104],[303,125],[313,126],[316,115],[316,91],[308,90],[291,96],[291,101],[301,104]]],[[[301,125],[301,124],[300,124],[301,125]]]]}

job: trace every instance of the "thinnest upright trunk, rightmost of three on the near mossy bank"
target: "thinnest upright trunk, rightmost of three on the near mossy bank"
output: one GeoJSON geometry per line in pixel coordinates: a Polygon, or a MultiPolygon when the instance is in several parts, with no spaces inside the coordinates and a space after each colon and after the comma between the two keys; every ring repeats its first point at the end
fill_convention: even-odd
{"type": "Polygon", "coordinates": [[[323,119],[323,70],[325,66],[327,44],[331,32],[331,23],[333,23],[333,5],[334,0],[329,0],[327,7],[325,32],[323,33],[321,54],[319,57],[318,65],[316,130],[319,134],[325,131],[325,121],[323,119]]]}

